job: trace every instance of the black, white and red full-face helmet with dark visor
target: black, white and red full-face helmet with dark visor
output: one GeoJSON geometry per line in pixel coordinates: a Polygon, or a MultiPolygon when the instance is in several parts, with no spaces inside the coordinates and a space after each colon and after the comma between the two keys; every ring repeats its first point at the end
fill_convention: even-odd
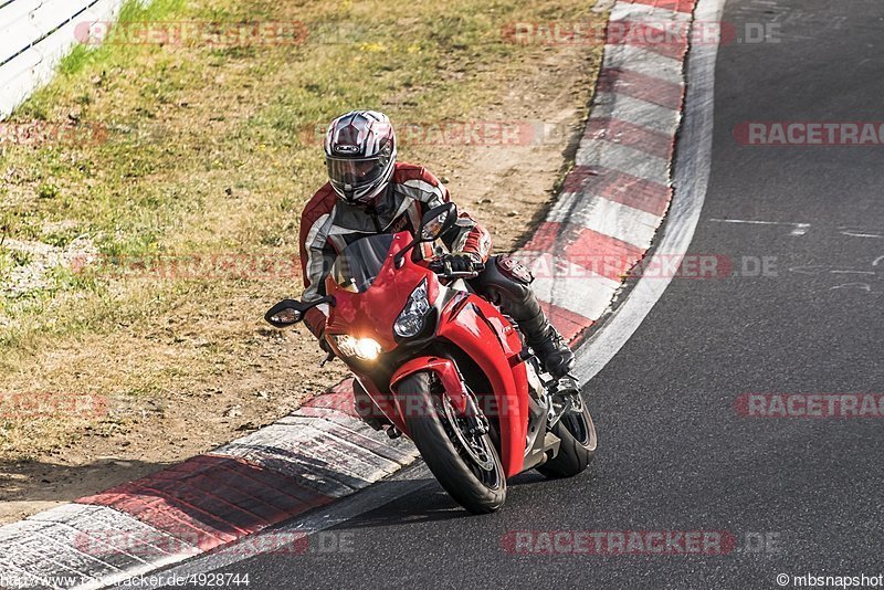
{"type": "Polygon", "coordinates": [[[325,162],[332,188],[351,204],[371,204],[396,167],[396,134],[387,115],[351,110],[328,125],[325,162]]]}

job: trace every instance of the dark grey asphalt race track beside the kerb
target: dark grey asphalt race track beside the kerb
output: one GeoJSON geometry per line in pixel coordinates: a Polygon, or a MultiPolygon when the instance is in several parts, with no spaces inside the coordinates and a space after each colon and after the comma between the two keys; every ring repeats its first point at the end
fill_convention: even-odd
{"type": "Polygon", "coordinates": [[[746,122],[884,119],[884,3],[730,0],[724,21],[780,23],[779,43],[718,53],[712,177],[688,256],[735,274],[676,277],[589,382],[600,433],[589,472],[520,476],[486,517],[430,482],[330,529],[350,551],[218,571],[249,572],[253,588],[683,589],[884,570],[884,420],[737,411],[747,393],[884,392],[884,147],[734,136],[746,122]],[[524,555],[517,531],[726,531],[736,547],[524,555]]]}

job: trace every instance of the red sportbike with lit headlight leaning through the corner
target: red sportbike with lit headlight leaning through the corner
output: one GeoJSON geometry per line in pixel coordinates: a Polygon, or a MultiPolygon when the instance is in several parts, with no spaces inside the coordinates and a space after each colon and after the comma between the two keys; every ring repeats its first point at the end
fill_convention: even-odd
{"type": "Polygon", "coordinates": [[[388,434],[408,435],[449,494],[480,514],[503,505],[507,477],[586,470],[596,429],[580,393],[558,393],[514,324],[469,289],[475,273],[424,257],[456,218],[449,203],[423,217],[417,236],[351,243],[327,296],[280,302],[265,319],[285,327],[327,304],[326,340],[391,422],[388,434]]]}

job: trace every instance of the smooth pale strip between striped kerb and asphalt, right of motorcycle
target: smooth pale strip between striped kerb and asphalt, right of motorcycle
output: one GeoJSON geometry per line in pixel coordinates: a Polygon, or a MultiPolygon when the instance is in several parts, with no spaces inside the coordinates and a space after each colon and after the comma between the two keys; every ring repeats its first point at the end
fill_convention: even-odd
{"type": "MultiPolygon", "coordinates": [[[[724,4],[725,0],[699,0],[695,21],[720,22],[724,4]]],[[[675,197],[653,257],[684,256],[699,222],[712,168],[717,55],[717,45],[691,48],[685,118],[676,148],[675,197]]],[[[577,375],[582,382],[596,377],[632,337],[670,281],[672,277],[643,277],[636,282],[623,304],[577,351],[577,375]]]]}

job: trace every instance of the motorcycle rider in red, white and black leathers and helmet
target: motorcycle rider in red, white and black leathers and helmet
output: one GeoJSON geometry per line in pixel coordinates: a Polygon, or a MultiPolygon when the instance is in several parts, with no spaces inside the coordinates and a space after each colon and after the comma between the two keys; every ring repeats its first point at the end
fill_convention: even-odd
{"type": "MultiPolygon", "coordinates": [[[[424,212],[450,201],[448,189],[430,171],[396,160],[396,134],[382,113],[351,110],[337,117],[328,125],[324,146],[328,182],[301,217],[304,302],[325,295],[325,278],[347,245],[377,233],[414,232],[424,212]]],[[[559,390],[573,391],[573,352],[540,309],[529,286],[530,273],[509,255],[490,256],[488,232],[459,211],[454,228],[441,236],[449,250],[443,261],[454,272],[478,271],[469,282],[471,287],[518,324],[528,346],[559,380],[559,390]]],[[[304,317],[324,350],[328,350],[326,317],[325,306],[312,308],[304,317]]],[[[356,390],[357,398],[367,397],[360,387],[356,390]]],[[[357,399],[357,411],[380,430],[386,420],[377,420],[378,414],[366,410],[373,403],[357,399]]]]}

